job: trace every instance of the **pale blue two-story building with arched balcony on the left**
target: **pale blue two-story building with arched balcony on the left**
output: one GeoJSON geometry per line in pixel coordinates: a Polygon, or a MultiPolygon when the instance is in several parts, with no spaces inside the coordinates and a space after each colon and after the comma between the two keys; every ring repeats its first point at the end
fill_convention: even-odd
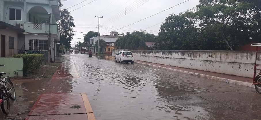
{"type": "MultiPolygon", "coordinates": [[[[5,36],[5,39],[9,39],[5,43],[1,40],[0,44],[9,46],[8,32],[17,31],[17,35],[12,34],[15,47],[5,47],[6,54],[3,57],[17,54],[18,50],[47,51],[48,61],[54,62],[56,42],[60,40],[57,25],[59,19],[59,0],[0,0],[0,21],[17,28],[10,31],[8,27],[3,27],[6,35],[0,32],[1,38],[5,36]],[[9,49],[14,49],[14,52],[7,52],[9,49]]],[[[1,53],[4,53],[2,50],[4,49],[1,49],[1,53]]]]}

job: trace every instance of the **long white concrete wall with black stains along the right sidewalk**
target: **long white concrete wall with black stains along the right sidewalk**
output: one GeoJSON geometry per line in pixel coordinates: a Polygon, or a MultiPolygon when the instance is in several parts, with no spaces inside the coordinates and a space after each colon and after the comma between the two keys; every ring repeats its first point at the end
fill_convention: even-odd
{"type": "MultiPolygon", "coordinates": [[[[119,50],[113,50],[113,56],[119,50]]],[[[253,77],[255,52],[252,51],[142,51],[130,50],[135,60],[253,77]]],[[[258,54],[258,64],[261,64],[258,54]]]]}

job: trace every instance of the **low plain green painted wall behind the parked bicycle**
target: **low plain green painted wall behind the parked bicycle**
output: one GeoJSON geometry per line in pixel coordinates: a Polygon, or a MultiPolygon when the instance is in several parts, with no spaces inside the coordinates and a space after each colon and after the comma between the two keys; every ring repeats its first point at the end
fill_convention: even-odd
{"type": "MultiPolygon", "coordinates": [[[[0,58],[0,65],[5,65],[0,67],[0,72],[5,72],[5,76],[14,77],[16,74],[16,70],[23,69],[23,58],[0,58]]],[[[23,71],[18,71],[18,76],[23,76],[23,71]]]]}

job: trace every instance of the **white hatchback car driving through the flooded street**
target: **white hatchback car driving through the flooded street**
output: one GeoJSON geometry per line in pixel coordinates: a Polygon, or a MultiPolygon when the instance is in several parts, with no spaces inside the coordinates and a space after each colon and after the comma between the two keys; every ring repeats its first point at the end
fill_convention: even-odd
{"type": "Polygon", "coordinates": [[[133,54],[130,51],[119,51],[116,56],[115,56],[115,62],[131,62],[132,64],[134,63],[134,58],[133,54]]]}

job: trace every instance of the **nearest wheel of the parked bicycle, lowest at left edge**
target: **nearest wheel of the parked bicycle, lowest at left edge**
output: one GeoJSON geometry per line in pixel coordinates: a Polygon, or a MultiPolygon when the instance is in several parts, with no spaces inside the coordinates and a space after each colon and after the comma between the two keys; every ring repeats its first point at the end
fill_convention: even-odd
{"type": "Polygon", "coordinates": [[[0,104],[3,113],[8,114],[10,111],[10,101],[8,97],[7,89],[4,85],[0,85],[0,99],[2,99],[2,103],[0,104]]]}

